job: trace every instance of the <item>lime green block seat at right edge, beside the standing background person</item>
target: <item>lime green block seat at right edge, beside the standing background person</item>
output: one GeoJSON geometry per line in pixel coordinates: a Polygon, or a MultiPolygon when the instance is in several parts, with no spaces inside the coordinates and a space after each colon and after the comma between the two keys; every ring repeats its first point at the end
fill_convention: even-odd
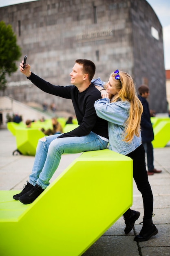
{"type": "Polygon", "coordinates": [[[160,121],[154,130],[154,140],[152,145],[154,148],[164,148],[170,141],[170,120],[160,121]]]}

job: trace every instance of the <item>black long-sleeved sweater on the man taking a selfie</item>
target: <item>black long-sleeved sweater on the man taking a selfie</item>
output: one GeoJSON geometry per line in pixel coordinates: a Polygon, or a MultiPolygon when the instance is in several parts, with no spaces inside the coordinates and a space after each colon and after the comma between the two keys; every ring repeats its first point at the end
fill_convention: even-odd
{"type": "Polygon", "coordinates": [[[81,137],[92,131],[108,139],[108,123],[106,120],[97,117],[95,112],[94,103],[101,98],[101,93],[94,85],[91,84],[85,91],[79,92],[75,85],[52,85],[33,73],[28,79],[44,92],[72,100],[79,126],[58,138],[81,137]]]}

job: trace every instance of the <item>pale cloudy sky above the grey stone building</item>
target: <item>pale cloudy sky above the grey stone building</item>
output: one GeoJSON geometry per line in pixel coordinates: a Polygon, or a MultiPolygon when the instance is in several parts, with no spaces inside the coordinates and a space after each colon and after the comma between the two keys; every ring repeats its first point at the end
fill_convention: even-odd
{"type": "MultiPolygon", "coordinates": [[[[32,0],[0,0],[0,7],[32,0]]],[[[170,70],[170,0],[147,0],[163,27],[165,69],[170,70]]]]}

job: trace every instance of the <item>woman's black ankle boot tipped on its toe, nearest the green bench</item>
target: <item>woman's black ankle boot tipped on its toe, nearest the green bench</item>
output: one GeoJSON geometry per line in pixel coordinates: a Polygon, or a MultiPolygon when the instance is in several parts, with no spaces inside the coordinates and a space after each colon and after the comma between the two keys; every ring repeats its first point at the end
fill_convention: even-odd
{"type": "Polygon", "coordinates": [[[139,218],[140,214],[141,213],[139,213],[139,211],[134,211],[134,210],[129,209],[128,213],[127,214],[125,213],[123,215],[125,224],[126,224],[126,227],[124,229],[126,235],[132,230],[132,228],[135,224],[135,221],[139,218]]]}

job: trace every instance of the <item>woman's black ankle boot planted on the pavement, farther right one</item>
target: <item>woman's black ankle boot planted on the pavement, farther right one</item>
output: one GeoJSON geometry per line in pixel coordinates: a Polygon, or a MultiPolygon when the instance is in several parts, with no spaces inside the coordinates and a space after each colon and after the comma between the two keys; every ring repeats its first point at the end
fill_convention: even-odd
{"type": "Polygon", "coordinates": [[[142,242],[148,241],[151,236],[155,236],[158,233],[157,228],[152,222],[152,218],[149,220],[143,220],[143,227],[139,235],[135,236],[134,241],[142,242]]]}

